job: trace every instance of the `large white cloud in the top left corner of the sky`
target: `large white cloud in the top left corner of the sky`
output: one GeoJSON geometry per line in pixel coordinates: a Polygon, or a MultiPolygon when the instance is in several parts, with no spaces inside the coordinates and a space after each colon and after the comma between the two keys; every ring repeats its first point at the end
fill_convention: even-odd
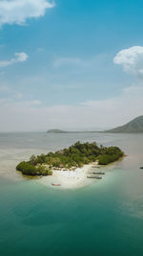
{"type": "Polygon", "coordinates": [[[47,0],[3,0],[0,1],[0,25],[23,25],[28,18],[43,16],[54,3],[47,0]]]}

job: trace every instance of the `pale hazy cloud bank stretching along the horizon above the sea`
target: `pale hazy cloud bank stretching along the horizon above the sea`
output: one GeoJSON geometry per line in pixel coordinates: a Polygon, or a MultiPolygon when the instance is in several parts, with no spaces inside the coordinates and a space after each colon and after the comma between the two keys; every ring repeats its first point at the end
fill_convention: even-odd
{"type": "Polygon", "coordinates": [[[44,106],[41,102],[0,100],[1,130],[48,128],[113,128],[143,114],[143,87],[124,89],[120,96],[79,105],[44,106]]]}

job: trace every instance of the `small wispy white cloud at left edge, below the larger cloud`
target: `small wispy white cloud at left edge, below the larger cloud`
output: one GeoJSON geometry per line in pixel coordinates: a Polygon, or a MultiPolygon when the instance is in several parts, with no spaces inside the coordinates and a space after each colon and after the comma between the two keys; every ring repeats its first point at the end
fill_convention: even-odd
{"type": "Polygon", "coordinates": [[[11,58],[10,60],[0,60],[0,67],[7,67],[13,63],[24,62],[28,58],[26,53],[15,53],[15,58],[11,58]]]}

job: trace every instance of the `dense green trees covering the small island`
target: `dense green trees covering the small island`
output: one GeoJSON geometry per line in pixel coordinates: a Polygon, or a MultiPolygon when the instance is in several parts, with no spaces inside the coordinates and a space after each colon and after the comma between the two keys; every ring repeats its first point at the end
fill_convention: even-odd
{"type": "Polygon", "coordinates": [[[49,152],[41,155],[31,155],[30,161],[21,162],[16,170],[23,175],[52,175],[52,169],[72,169],[82,167],[85,164],[98,161],[101,165],[107,165],[119,159],[124,153],[117,147],[100,147],[95,142],[76,142],[68,149],[49,152]]]}

